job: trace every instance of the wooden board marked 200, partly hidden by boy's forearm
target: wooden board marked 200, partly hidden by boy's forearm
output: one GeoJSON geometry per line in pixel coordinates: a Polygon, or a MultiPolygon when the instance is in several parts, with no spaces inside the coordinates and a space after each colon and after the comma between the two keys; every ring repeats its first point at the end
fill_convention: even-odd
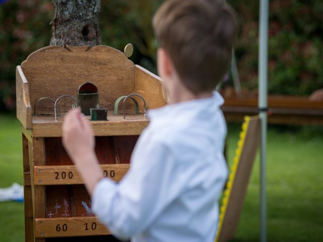
{"type": "MultiPolygon", "coordinates": [[[[100,165],[104,177],[120,181],[127,173],[129,164],[100,165]]],[[[74,165],[34,166],[34,185],[83,184],[81,175],[74,165]]]]}

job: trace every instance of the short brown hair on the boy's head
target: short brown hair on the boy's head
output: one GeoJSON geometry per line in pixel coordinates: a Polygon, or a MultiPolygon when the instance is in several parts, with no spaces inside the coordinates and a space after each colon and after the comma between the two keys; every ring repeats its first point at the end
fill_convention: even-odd
{"type": "Polygon", "coordinates": [[[153,18],[159,43],[184,85],[211,91],[228,72],[236,19],[224,0],[168,0],[153,18]]]}

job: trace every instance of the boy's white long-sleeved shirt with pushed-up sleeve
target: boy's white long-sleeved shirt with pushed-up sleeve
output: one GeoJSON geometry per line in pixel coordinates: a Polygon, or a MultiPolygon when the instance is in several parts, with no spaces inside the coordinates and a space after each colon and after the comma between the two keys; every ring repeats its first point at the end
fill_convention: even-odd
{"type": "Polygon", "coordinates": [[[228,174],[223,98],[150,110],[131,166],[119,184],[101,179],[92,209],[110,231],[133,242],[211,242],[228,174]]]}

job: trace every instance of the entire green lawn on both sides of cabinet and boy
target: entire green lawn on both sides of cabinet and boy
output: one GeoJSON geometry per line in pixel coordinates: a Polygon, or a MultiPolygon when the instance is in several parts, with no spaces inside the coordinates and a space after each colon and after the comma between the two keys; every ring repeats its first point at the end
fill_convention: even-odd
{"type": "MultiPolygon", "coordinates": [[[[323,241],[323,127],[271,127],[268,131],[268,241],[323,241]]],[[[232,163],[240,127],[230,125],[232,163]]],[[[22,184],[20,124],[0,115],[0,187],[22,184]]],[[[259,160],[253,167],[236,239],[259,239],[259,160]]],[[[24,240],[23,204],[0,203],[1,241],[24,240]]]]}

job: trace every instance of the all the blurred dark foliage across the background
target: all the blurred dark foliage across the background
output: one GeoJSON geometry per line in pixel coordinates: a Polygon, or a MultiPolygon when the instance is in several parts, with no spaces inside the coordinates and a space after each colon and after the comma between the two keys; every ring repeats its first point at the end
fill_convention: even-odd
{"type": "MultiPolygon", "coordinates": [[[[123,50],[133,43],[131,57],[156,73],[156,41],[151,17],[163,0],[101,0],[102,44],[123,50]]],[[[237,12],[235,44],[242,86],[257,89],[258,1],[227,0],[237,12]]],[[[0,2],[0,111],[15,108],[15,67],[51,36],[49,0],[0,2]]],[[[323,87],[323,1],[271,0],[268,88],[270,93],[309,95],[323,87]]]]}

